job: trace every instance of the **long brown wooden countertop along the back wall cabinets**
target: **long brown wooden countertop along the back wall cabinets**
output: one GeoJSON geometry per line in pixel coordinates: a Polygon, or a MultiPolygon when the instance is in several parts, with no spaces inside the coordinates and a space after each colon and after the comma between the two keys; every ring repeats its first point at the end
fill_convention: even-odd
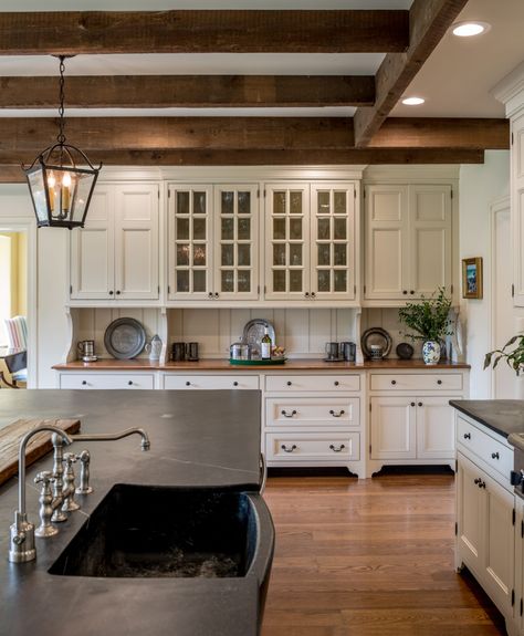
{"type": "Polygon", "coordinates": [[[470,368],[465,363],[451,363],[443,362],[437,365],[427,365],[421,358],[413,359],[382,359],[382,361],[365,361],[361,364],[354,362],[324,362],[322,358],[295,358],[287,359],[284,364],[280,365],[233,365],[229,359],[200,359],[198,362],[166,362],[164,364],[158,362],[150,362],[147,358],[135,359],[114,359],[104,358],[97,362],[82,362],[74,361],[64,364],[55,364],[53,366],[56,371],[176,371],[176,372],[200,372],[200,371],[228,371],[228,372],[245,372],[245,371],[444,371],[470,368]]]}

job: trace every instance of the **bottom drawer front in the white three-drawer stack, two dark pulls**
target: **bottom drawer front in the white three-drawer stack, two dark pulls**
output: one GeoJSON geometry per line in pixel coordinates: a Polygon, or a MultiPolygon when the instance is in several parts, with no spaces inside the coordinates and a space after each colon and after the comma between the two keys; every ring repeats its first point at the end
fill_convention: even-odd
{"type": "Polygon", "coordinates": [[[271,461],[356,461],[359,459],[358,432],[297,432],[265,436],[265,452],[271,461]]]}

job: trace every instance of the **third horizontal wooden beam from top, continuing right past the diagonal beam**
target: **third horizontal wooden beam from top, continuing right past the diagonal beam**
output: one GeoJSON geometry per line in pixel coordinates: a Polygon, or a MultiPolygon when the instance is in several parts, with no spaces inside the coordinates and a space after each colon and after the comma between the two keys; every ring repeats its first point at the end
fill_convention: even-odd
{"type": "MultiPolygon", "coordinates": [[[[69,117],[67,142],[98,152],[348,150],[346,117],[69,117]]],[[[0,152],[36,154],[55,142],[57,118],[0,117],[0,152]]],[[[390,118],[370,148],[479,150],[509,148],[505,119],[390,118]]]]}

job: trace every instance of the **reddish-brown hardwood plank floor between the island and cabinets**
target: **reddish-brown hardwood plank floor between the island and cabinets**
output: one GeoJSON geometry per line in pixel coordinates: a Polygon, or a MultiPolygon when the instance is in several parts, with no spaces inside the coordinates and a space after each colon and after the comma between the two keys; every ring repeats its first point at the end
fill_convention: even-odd
{"type": "Polygon", "coordinates": [[[452,475],[269,478],[276,549],[262,636],[493,636],[453,570],[452,475]]]}

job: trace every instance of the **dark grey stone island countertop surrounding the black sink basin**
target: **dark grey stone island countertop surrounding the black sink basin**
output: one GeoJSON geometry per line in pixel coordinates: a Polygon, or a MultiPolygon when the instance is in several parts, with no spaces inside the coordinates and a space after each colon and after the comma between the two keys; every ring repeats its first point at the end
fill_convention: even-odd
{"type": "MultiPolygon", "coordinates": [[[[81,510],[59,524],[60,533],[36,538],[36,561],[7,561],[9,526],[18,507],[18,483],[0,488],[0,634],[128,636],[134,634],[255,635],[268,583],[258,566],[243,577],[111,578],[48,573],[64,548],[115,483],[229,488],[253,493],[261,525],[256,550],[270,562],[271,518],[259,494],[260,393],[168,390],[6,390],[0,392],[0,427],[20,418],[78,418],[81,432],[115,432],[140,426],[139,438],[74,442],[88,449],[94,492],[78,496],[81,510]]],[[[38,471],[50,469],[48,456],[28,470],[28,517],[38,522],[38,471]]],[[[250,496],[251,497],[251,496],[250,496]]],[[[161,514],[161,511],[159,511],[161,514]]],[[[212,532],[212,528],[210,529],[212,532]]]]}

